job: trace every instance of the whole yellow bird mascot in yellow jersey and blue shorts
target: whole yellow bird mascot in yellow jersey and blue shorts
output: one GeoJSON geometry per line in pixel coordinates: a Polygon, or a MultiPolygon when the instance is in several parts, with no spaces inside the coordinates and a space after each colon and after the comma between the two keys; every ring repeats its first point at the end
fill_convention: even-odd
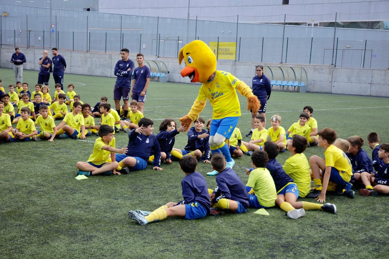
{"type": "MultiPolygon", "coordinates": [[[[261,104],[243,81],[228,72],[216,70],[216,57],[211,49],[201,40],[194,40],[186,44],[179,53],[179,63],[185,61],[186,67],[181,70],[182,77],[189,77],[191,82],[200,82],[199,94],[189,113],[180,118],[182,125],[190,128],[191,123],[205,107],[207,98],[212,108],[212,124],[209,136],[209,145],[212,154],[222,153],[226,157],[227,167],[232,168],[235,161],[231,158],[226,138],[230,138],[238,124],[240,104],[235,89],[247,98],[247,110],[258,112],[261,104]]],[[[217,175],[217,171],[207,175],[217,175]]]]}

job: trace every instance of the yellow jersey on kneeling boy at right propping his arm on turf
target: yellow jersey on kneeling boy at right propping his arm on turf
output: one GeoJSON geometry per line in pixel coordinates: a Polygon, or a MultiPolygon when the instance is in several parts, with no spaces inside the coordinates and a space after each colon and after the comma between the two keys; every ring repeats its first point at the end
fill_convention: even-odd
{"type": "Polygon", "coordinates": [[[338,170],[340,177],[346,182],[350,182],[352,176],[352,166],[350,159],[346,154],[335,147],[334,145],[329,145],[327,150],[324,152],[324,157],[326,160],[326,166],[332,166],[338,170]]]}

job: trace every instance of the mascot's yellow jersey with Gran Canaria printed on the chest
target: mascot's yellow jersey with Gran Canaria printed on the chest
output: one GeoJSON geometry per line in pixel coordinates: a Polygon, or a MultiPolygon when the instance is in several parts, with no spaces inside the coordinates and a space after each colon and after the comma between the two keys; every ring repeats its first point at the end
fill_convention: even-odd
{"type": "Polygon", "coordinates": [[[228,72],[217,70],[212,81],[200,87],[197,100],[210,101],[212,119],[240,116],[240,103],[235,88],[241,81],[228,72]]]}

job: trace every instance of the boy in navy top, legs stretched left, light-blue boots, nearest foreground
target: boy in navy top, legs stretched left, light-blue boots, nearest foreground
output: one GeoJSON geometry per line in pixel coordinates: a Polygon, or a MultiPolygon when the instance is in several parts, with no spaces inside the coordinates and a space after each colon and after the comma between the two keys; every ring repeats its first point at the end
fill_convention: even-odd
{"type": "Polygon", "coordinates": [[[185,173],[181,181],[183,201],[169,202],[153,212],[130,210],[128,216],[140,225],[161,221],[166,217],[185,217],[185,219],[200,219],[210,212],[210,200],[207,182],[203,175],[196,172],[197,159],[194,156],[184,156],[180,160],[181,170],[185,173]]]}

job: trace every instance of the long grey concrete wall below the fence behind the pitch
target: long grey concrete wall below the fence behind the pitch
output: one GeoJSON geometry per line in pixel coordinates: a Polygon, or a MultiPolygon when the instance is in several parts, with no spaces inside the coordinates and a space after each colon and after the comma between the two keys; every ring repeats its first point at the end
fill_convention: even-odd
{"type": "MultiPolygon", "coordinates": [[[[50,51],[50,50],[48,50],[50,51]]],[[[27,63],[24,68],[28,70],[39,70],[38,61],[43,51],[37,49],[21,49],[25,54],[27,63]]],[[[9,62],[13,48],[0,48],[0,67],[12,68],[9,62]]],[[[81,75],[98,75],[114,77],[114,67],[120,54],[86,53],[73,51],[60,51],[67,62],[65,73],[81,75]]],[[[50,54],[51,58],[52,55],[50,54]]],[[[135,60],[135,54],[130,58],[135,60]]],[[[177,58],[157,58],[156,56],[145,56],[146,60],[163,61],[168,68],[168,81],[189,83],[188,77],[181,77],[180,71],[184,68],[184,62],[179,65],[177,58]]],[[[308,76],[307,92],[313,93],[339,93],[358,94],[370,96],[389,97],[389,69],[359,69],[359,68],[334,68],[332,65],[308,65],[290,63],[261,63],[263,66],[302,66],[308,76]]],[[[247,85],[251,86],[254,77],[254,68],[258,63],[217,61],[217,69],[232,73],[247,85]]],[[[266,70],[265,70],[266,71],[266,70]]],[[[274,80],[277,80],[274,78],[274,80]]],[[[280,80],[280,79],[278,79],[280,80]]]]}

